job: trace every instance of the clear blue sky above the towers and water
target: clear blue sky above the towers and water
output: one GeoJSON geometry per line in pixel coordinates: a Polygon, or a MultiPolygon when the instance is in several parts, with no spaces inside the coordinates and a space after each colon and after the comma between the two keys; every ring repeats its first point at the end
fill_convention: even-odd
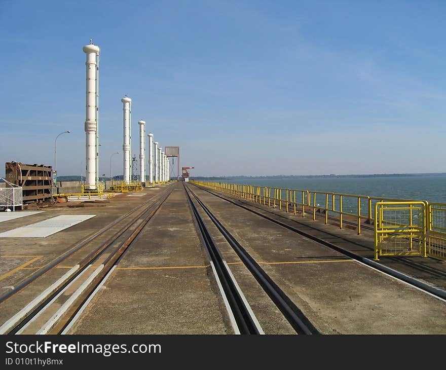
{"type": "MultiPolygon", "coordinates": [[[[191,174],[445,172],[446,2],[0,0],[0,163],[85,165],[101,48],[100,175],[122,103],[191,174]]],[[[3,176],[0,174],[0,176],[3,176]]]]}

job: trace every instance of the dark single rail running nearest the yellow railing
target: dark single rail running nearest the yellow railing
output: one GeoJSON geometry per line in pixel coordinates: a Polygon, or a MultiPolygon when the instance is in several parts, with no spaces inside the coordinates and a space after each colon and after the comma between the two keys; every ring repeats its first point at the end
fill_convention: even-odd
{"type": "MultiPolygon", "coordinates": [[[[194,185],[195,185],[195,184],[194,184],[194,185]]],[[[289,225],[287,225],[287,224],[284,224],[284,223],[282,223],[282,222],[279,221],[279,220],[276,220],[276,219],[274,219],[274,218],[271,218],[271,217],[269,217],[269,216],[267,216],[267,215],[264,215],[264,214],[262,214],[262,213],[260,213],[260,212],[254,211],[254,210],[252,210],[252,209],[250,209],[250,208],[248,208],[248,207],[246,207],[246,206],[243,206],[243,205],[241,205],[241,204],[237,204],[236,202],[234,202],[234,201],[232,201],[232,200],[229,200],[229,199],[227,199],[227,198],[225,198],[225,197],[221,197],[221,196],[219,196],[219,195],[217,195],[217,194],[214,194],[214,193],[208,191],[207,189],[203,189],[202,187],[199,187],[199,186],[197,186],[197,185],[195,185],[195,186],[196,186],[197,188],[201,189],[201,190],[204,190],[204,191],[208,192],[209,194],[214,195],[215,197],[218,197],[218,198],[221,198],[221,199],[223,199],[223,200],[226,200],[226,201],[229,202],[229,203],[232,203],[232,204],[234,204],[234,205],[236,205],[236,206],[238,206],[238,207],[240,207],[240,208],[246,209],[246,210],[248,210],[249,212],[252,212],[252,213],[254,213],[254,214],[256,214],[256,215],[258,215],[258,216],[260,216],[260,217],[263,217],[263,218],[265,218],[265,219],[271,221],[271,222],[274,223],[274,224],[277,224],[277,225],[279,225],[279,226],[282,226],[282,227],[285,228],[285,229],[288,229],[288,230],[290,230],[290,231],[292,231],[292,232],[295,232],[295,233],[297,233],[297,234],[299,234],[299,235],[302,235],[302,236],[304,236],[304,237],[306,237],[306,238],[308,238],[308,239],[311,239],[311,240],[313,240],[313,241],[315,241],[315,242],[317,242],[317,243],[319,243],[319,244],[325,245],[325,246],[327,246],[327,247],[329,247],[329,248],[331,248],[331,249],[333,249],[333,250],[336,250],[336,251],[338,251],[338,252],[340,252],[340,253],[342,253],[342,254],[345,254],[345,255],[349,256],[350,258],[352,258],[353,260],[356,260],[356,261],[358,261],[358,262],[361,262],[361,263],[363,263],[364,265],[367,265],[368,267],[372,267],[372,268],[374,268],[374,269],[376,269],[376,270],[379,270],[379,271],[381,271],[381,272],[383,272],[383,273],[386,273],[386,274],[388,274],[388,275],[390,275],[390,276],[392,276],[392,277],[394,277],[394,278],[396,278],[396,279],[399,279],[399,280],[401,280],[401,281],[404,281],[404,282],[407,283],[407,284],[413,285],[413,286],[415,286],[415,287],[417,287],[417,288],[419,288],[419,289],[421,289],[421,290],[424,290],[425,292],[428,292],[428,293],[434,295],[435,297],[438,297],[438,298],[440,298],[440,299],[442,299],[442,300],[446,300],[446,291],[445,291],[445,290],[435,288],[435,287],[433,287],[433,286],[431,286],[431,285],[429,285],[429,284],[427,284],[427,283],[425,283],[425,282],[423,282],[423,281],[420,281],[420,280],[415,279],[415,278],[413,278],[413,277],[411,277],[411,276],[405,275],[405,274],[403,274],[403,273],[401,273],[401,272],[399,272],[399,271],[396,271],[396,270],[393,270],[393,269],[391,269],[391,268],[389,268],[389,267],[386,267],[386,266],[384,266],[384,265],[381,265],[381,264],[379,264],[378,262],[369,260],[369,258],[366,258],[366,257],[360,256],[360,255],[358,255],[358,254],[355,254],[355,253],[353,253],[353,252],[351,252],[351,251],[349,251],[349,250],[347,250],[347,249],[344,249],[344,248],[342,248],[342,247],[340,247],[340,246],[338,246],[338,245],[336,245],[336,244],[330,243],[330,242],[328,242],[328,241],[326,241],[326,240],[323,240],[323,239],[321,239],[321,238],[318,238],[318,237],[315,237],[315,236],[313,236],[313,235],[311,235],[311,234],[308,234],[308,233],[306,233],[306,232],[304,232],[304,231],[302,231],[302,230],[299,230],[299,229],[296,229],[296,228],[294,228],[294,227],[292,227],[292,226],[289,226],[289,225]]],[[[295,223],[298,223],[299,225],[302,225],[302,226],[305,226],[305,227],[309,227],[309,228],[315,229],[315,228],[313,228],[313,227],[311,227],[311,226],[302,224],[302,223],[300,223],[299,221],[296,221],[296,220],[293,220],[293,221],[294,221],[295,223]]],[[[315,229],[315,230],[317,230],[317,229],[315,229]]],[[[328,234],[328,233],[327,233],[327,234],[328,234]]],[[[331,235],[331,234],[329,234],[329,235],[331,235]]],[[[345,239],[344,239],[344,240],[345,240],[345,239]]]]}

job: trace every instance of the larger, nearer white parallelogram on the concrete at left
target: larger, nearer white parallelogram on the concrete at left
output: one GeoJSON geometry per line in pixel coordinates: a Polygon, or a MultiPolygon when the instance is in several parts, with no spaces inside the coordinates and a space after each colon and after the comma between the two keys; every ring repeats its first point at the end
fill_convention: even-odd
{"type": "Polygon", "coordinates": [[[23,226],[0,233],[0,237],[4,238],[45,238],[48,235],[58,233],[73,225],[79,224],[95,214],[79,214],[79,215],[61,215],[46,219],[39,223],[23,226]]]}

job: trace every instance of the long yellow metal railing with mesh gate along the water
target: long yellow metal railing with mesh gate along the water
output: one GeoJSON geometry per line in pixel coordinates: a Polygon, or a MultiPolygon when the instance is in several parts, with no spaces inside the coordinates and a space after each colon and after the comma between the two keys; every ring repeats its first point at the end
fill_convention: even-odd
{"type": "MultiPolygon", "coordinates": [[[[311,214],[313,220],[316,220],[316,216],[323,215],[325,224],[328,224],[329,215],[334,215],[331,219],[339,223],[341,229],[344,227],[345,221],[348,221],[356,225],[358,234],[361,234],[361,224],[374,225],[375,241],[378,240],[378,243],[381,243],[378,246],[378,252],[377,249],[375,251],[379,255],[420,254],[446,260],[445,203],[226,182],[190,181],[264,206],[283,209],[285,212],[293,212],[293,214],[300,213],[302,217],[311,214]],[[345,206],[346,203],[348,206],[345,206]],[[397,210],[398,205],[401,205],[402,209],[397,210]],[[396,216],[397,212],[399,212],[399,216],[396,216]],[[424,226],[420,227],[417,224],[412,228],[416,225],[416,220],[417,222],[423,220],[424,226]],[[415,248],[414,243],[418,243],[419,247],[415,248]]],[[[378,258],[377,255],[376,258],[378,258]]]]}

